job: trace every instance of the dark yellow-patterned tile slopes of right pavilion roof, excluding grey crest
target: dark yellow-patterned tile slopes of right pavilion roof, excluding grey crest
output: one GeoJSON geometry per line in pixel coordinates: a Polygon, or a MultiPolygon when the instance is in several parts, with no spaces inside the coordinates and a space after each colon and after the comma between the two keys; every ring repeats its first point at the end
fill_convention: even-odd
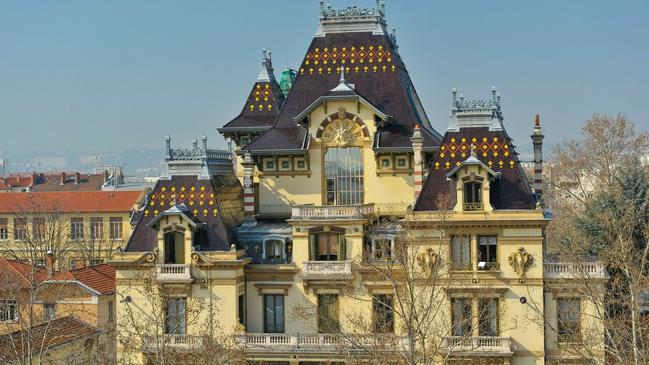
{"type": "Polygon", "coordinates": [[[504,130],[479,127],[461,128],[444,135],[413,210],[452,209],[456,202],[455,182],[448,181],[447,174],[470,157],[471,144],[476,157],[501,174],[491,185],[490,199],[494,209],[535,209],[534,194],[511,138],[504,130]],[[443,204],[447,198],[450,198],[448,207],[443,204]]]}

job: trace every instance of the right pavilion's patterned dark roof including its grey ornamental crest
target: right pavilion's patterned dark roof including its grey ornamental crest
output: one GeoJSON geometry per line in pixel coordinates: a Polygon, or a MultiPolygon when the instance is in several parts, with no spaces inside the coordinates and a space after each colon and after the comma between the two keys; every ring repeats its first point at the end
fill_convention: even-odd
{"type": "Polygon", "coordinates": [[[490,191],[494,209],[535,209],[534,194],[502,124],[500,100],[495,90],[492,94],[491,101],[467,101],[455,100],[453,92],[451,123],[414,210],[452,209],[456,201],[455,182],[449,181],[448,176],[467,162],[483,164],[500,175],[492,182],[490,191]],[[450,206],[443,206],[444,203],[450,206]]]}

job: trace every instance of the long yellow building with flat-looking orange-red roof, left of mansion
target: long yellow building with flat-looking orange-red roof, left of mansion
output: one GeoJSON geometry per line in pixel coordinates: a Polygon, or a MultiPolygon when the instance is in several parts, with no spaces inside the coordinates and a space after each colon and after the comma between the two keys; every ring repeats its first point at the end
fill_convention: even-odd
{"type": "Polygon", "coordinates": [[[0,257],[45,262],[58,268],[97,264],[124,246],[132,214],[147,190],[53,191],[0,194],[0,257]]]}

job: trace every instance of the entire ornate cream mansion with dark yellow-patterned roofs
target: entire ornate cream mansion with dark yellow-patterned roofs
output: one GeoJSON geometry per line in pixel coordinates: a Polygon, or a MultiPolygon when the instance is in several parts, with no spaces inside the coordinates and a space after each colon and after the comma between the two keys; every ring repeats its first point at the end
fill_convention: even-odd
{"type": "MultiPolygon", "coordinates": [[[[440,362],[601,356],[564,351],[585,336],[604,339],[586,320],[592,303],[574,295],[582,271],[544,265],[540,121],[531,185],[495,90],[488,100],[454,92],[450,125],[438,133],[386,28],[381,5],[321,2],[286,99],[264,54],[243,111],[219,129],[237,144],[236,174],[230,154],[208,150],[205,138],[189,150],[167,139],[169,176],[112,261],[125,298],[119,359],[207,352],[218,327],[253,364],[398,362],[420,345],[397,310],[405,284],[372,270],[406,261],[417,267],[416,292],[431,289],[421,283],[433,274],[446,283],[424,303],[438,309],[427,325],[442,329],[429,339],[440,362]],[[404,242],[416,257],[404,259],[404,242]],[[196,302],[208,312],[196,313],[196,302]],[[164,326],[147,327],[160,317],[164,326]],[[129,323],[150,330],[137,336],[129,323]]],[[[606,278],[598,265],[584,272],[606,278]]]]}

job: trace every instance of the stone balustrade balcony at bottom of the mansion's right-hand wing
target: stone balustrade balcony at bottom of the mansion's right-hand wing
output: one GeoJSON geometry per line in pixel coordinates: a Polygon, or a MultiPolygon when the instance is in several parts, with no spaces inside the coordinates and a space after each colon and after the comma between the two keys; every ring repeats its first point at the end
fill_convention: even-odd
{"type": "Polygon", "coordinates": [[[441,350],[457,356],[511,356],[511,337],[444,337],[441,350]]]}

